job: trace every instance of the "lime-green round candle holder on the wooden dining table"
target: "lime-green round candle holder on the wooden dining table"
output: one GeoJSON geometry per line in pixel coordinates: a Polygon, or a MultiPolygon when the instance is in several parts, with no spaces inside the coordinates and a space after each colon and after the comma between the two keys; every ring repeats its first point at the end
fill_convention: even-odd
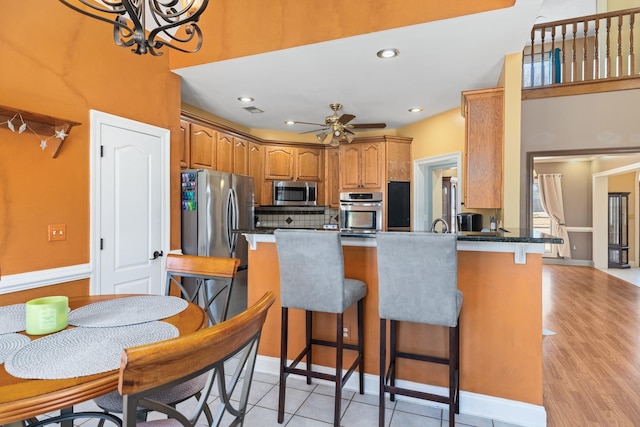
{"type": "Polygon", "coordinates": [[[27,301],[27,334],[44,335],[63,330],[69,324],[69,298],[52,296],[27,301]]]}

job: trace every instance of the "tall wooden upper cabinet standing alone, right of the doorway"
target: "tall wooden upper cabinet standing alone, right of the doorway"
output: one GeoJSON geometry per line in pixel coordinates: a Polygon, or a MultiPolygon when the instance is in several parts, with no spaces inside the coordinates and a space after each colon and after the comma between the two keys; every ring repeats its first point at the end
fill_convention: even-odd
{"type": "Polygon", "coordinates": [[[463,92],[465,116],[464,205],[502,208],[504,90],[463,92]]]}

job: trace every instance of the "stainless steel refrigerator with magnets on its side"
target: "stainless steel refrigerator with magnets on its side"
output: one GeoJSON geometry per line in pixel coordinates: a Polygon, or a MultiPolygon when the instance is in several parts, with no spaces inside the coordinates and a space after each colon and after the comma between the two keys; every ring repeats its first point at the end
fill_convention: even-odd
{"type": "MultiPolygon", "coordinates": [[[[182,253],[240,259],[227,318],[247,308],[248,244],[233,230],[252,230],[253,225],[253,177],[208,169],[182,171],[182,253]]],[[[209,281],[207,286],[209,295],[215,295],[221,283],[209,281]]],[[[220,318],[222,299],[213,310],[220,318]]]]}

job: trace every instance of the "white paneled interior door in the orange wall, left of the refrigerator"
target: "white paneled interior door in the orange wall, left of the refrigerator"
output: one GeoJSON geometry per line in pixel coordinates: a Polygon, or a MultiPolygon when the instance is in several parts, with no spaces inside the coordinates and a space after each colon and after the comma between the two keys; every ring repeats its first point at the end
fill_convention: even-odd
{"type": "Polygon", "coordinates": [[[92,111],[92,293],[162,294],[169,131],[92,111]]]}

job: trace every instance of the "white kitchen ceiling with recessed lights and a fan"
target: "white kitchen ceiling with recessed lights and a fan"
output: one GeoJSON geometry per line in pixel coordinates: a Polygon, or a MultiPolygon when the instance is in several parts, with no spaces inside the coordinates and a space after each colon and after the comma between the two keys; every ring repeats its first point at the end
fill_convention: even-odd
{"type": "MultiPolygon", "coordinates": [[[[305,132],[331,103],[351,122],[395,129],[460,105],[464,90],[494,87],[504,55],[522,51],[535,23],[595,13],[595,0],[517,0],[497,11],[175,70],[182,101],[252,129],[305,132]],[[542,6],[542,8],[541,8],[542,6]],[[395,59],[376,52],[397,48],[395,59]],[[254,102],[243,104],[239,96],[254,102]],[[253,106],[263,113],[252,114],[253,106]],[[421,113],[409,113],[422,107],[421,113]]],[[[206,34],[205,40],[206,43],[206,34]]]]}

